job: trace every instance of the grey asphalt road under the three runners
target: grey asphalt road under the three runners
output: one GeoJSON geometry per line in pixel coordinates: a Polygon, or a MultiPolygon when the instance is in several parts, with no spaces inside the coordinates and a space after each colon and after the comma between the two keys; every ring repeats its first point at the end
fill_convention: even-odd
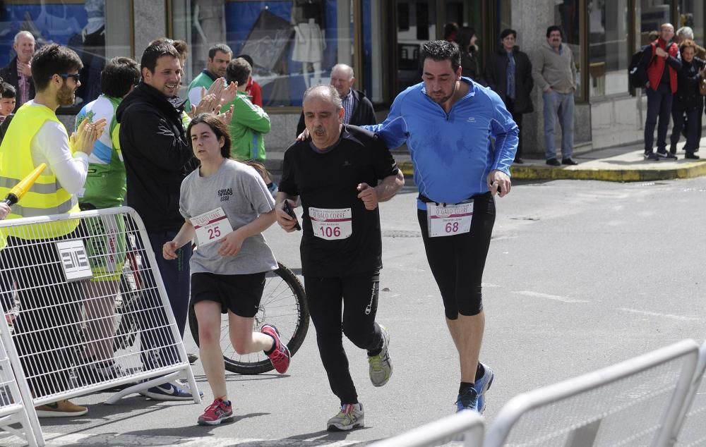
{"type": "MultiPolygon", "coordinates": [[[[286,375],[227,376],[236,420],[199,427],[202,405],[128,396],[76,398],[90,412],[42,420],[51,446],[347,446],[382,439],[454,411],[455,350],[426,264],[408,186],[381,204],[383,262],[378,321],[390,330],[395,371],[383,388],[365,353],[347,343],[366,427],[325,431],[337,412],[313,326],[286,375]]],[[[515,184],[497,200],[484,275],[481,359],[496,372],[486,420],[522,391],[626,360],[683,338],[705,338],[706,178],[658,183],[560,180],[515,184]]],[[[281,262],[299,266],[299,235],[270,228],[281,262]]],[[[188,332],[188,331],[187,331],[188,332]]],[[[194,350],[186,340],[187,350],[194,350]]],[[[1,437],[1,445],[21,445],[1,437]]]]}

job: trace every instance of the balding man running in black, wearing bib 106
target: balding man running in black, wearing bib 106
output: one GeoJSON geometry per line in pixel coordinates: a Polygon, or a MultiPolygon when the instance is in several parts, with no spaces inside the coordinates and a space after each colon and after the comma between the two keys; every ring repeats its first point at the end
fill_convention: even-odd
{"type": "Polygon", "coordinates": [[[341,405],[326,428],[351,430],[364,426],[364,414],[342,335],[367,351],[373,386],[386,384],[393,372],[390,336],[375,321],[383,267],[378,202],[392,198],[405,178],[381,140],[343,123],[333,86],[306,90],[303,105],[311,140],[285,152],[275,209],[280,226],[294,231],[297,221],[283,207],[294,207],[301,195],[306,300],[321,361],[341,405]]]}

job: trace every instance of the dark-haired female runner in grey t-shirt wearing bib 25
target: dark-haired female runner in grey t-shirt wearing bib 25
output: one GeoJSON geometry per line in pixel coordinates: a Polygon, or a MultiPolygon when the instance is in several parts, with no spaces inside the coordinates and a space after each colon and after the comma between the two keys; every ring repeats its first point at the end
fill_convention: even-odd
{"type": "Polygon", "coordinates": [[[280,374],[289,367],[289,350],[274,326],[253,332],[265,286],[265,274],[277,261],[262,232],[275,222],[275,202],[255,169],[230,159],[227,126],[215,115],[201,114],[186,130],[201,166],[181,183],[179,211],[184,225],[164,244],[164,259],[196,238],[191,257],[191,302],[198,321],[199,353],[213,403],[198,424],[232,420],[220,348],[221,314],[229,317],[233,348],[243,355],[265,351],[280,374]]]}

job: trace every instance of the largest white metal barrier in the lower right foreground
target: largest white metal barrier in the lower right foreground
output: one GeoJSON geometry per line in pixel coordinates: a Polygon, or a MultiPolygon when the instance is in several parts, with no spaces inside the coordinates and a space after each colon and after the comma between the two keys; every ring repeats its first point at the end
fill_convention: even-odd
{"type": "Polygon", "coordinates": [[[520,394],[484,446],[669,446],[697,361],[698,344],[685,340],[520,394]]]}

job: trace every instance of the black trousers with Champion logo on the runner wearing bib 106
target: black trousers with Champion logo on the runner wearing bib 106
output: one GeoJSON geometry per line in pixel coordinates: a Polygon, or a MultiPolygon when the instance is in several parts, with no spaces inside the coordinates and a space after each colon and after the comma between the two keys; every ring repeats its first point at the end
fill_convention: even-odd
{"type": "Polygon", "coordinates": [[[357,403],[358,394],[343,349],[343,334],[358,348],[375,352],[383,344],[378,310],[379,271],[337,278],[304,276],[309,314],[331,391],[341,405],[357,403]]]}

